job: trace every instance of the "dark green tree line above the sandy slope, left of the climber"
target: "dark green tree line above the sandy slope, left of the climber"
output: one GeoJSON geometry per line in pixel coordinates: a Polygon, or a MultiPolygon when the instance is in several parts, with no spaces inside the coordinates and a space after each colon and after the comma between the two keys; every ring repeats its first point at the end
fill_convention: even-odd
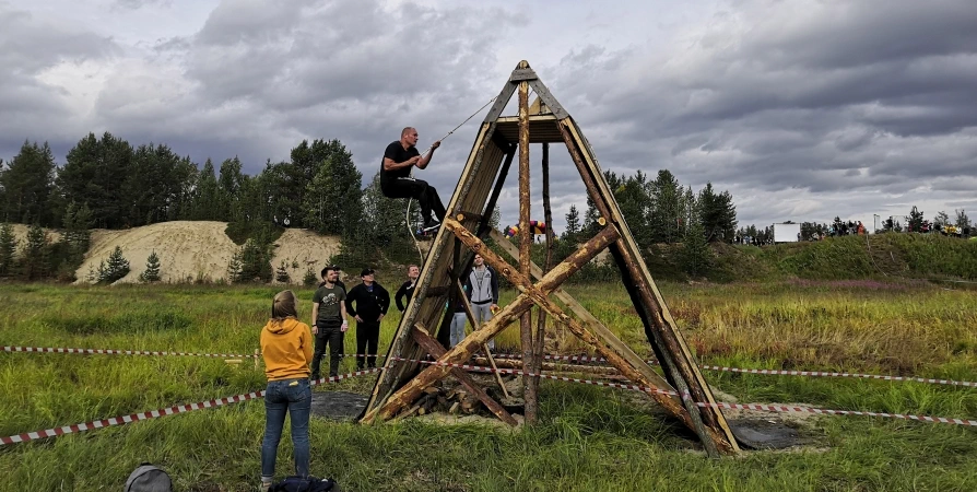
{"type": "MultiPolygon", "coordinates": [[[[389,259],[402,260],[397,251],[413,247],[402,200],[382,196],[378,174],[364,188],[339,140],[303,140],[287,161],[269,160],[255,175],[245,174],[236,156],[199,166],[165,144],[133,147],[109,132],[79,140],[61,165],[46,142],[25,141],[9,162],[0,160],[0,222],[87,231],[174,220],[228,222],[238,244],[254,239],[259,260],[270,259],[274,230],[280,234],[282,226],[341,235],[340,257],[354,262],[389,258],[391,251],[389,259]]],[[[35,233],[34,243],[28,237],[20,245],[36,268],[4,261],[0,251],[0,274],[35,279],[60,271],[57,277],[67,279],[87,249],[87,233],[84,241],[72,234],[78,235],[51,243],[35,233]]],[[[17,248],[9,236],[0,237],[0,249],[17,248]]],[[[269,276],[262,270],[259,277],[269,276]]]]}

